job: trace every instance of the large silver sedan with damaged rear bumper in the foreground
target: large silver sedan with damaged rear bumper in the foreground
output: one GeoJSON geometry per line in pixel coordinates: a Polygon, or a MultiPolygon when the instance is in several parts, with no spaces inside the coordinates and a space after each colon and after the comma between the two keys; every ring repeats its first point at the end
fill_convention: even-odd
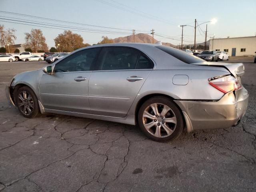
{"type": "Polygon", "coordinates": [[[248,104],[243,74],[242,63],[212,64],[169,46],[100,44],[17,74],[6,90],[27,118],[50,112],[138,124],[166,141],[184,127],[237,125],[248,104]]]}

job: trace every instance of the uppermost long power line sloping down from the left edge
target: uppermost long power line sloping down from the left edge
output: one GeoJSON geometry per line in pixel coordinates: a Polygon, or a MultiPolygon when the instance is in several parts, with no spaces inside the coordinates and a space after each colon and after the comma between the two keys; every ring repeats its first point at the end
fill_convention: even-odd
{"type": "Polygon", "coordinates": [[[106,27],[106,26],[84,24],[84,23],[76,23],[76,22],[70,22],[70,21],[64,21],[64,20],[56,20],[56,19],[51,19],[51,18],[38,17],[38,16],[32,16],[32,15],[20,14],[20,13],[14,13],[14,12],[7,12],[7,11],[1,11],[1,10],[0,10],[0,12],[4,13],[4,14],[18,15],[18,16],[24,16],[24,17],[30,17],[30,18],[38,18],[38,19],[41,19],[41,20],[44,19],[44,20],[50,20],[50,21],[72,23],[72,24],[78,24],[78,25],[84,25],[84,26],[92,26],[92,27],[99,27],[99,28],[109,28],[109,29],[117,29],[117,30],[126,30],[126,31],[130,31],[131,30],[131,29],[121,29],[121,28],[114,28],[114,27],[106,27]]]}

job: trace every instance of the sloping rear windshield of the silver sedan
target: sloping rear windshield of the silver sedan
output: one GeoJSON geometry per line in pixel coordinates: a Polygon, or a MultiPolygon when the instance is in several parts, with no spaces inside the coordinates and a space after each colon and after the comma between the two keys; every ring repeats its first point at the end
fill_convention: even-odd
{"type": "Polygon", "coordinates": [[[178,50],[176,48],[172,48],[164,45],[156,46],[156,48],[168,53],[169,55],[177,58],[178,60],[181,60],[184,63],[192,64],[192,63],[204,62],[204,60],[194,55],[187,54],[186,52],[178,50]]]}

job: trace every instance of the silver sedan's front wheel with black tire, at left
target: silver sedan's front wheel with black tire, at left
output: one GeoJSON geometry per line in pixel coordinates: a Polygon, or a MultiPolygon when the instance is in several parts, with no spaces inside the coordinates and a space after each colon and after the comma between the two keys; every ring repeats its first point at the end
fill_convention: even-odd
{"type": "Polygon", "coordinates": [[[39,114],[36,94],[27,86],[14,90],[14,101],[20,113],[26,118],[34,118],[39,114]]]}

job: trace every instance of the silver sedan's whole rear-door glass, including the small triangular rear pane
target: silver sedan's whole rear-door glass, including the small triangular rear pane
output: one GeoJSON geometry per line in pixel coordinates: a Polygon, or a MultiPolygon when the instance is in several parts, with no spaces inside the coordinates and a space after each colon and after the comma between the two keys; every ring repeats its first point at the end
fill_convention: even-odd
{"type": "Polygon", "coordinates": [[[140,51],[127,47],[102,48],[98,64],[98,70],[150,69],[154,66],[140,51]]]}

